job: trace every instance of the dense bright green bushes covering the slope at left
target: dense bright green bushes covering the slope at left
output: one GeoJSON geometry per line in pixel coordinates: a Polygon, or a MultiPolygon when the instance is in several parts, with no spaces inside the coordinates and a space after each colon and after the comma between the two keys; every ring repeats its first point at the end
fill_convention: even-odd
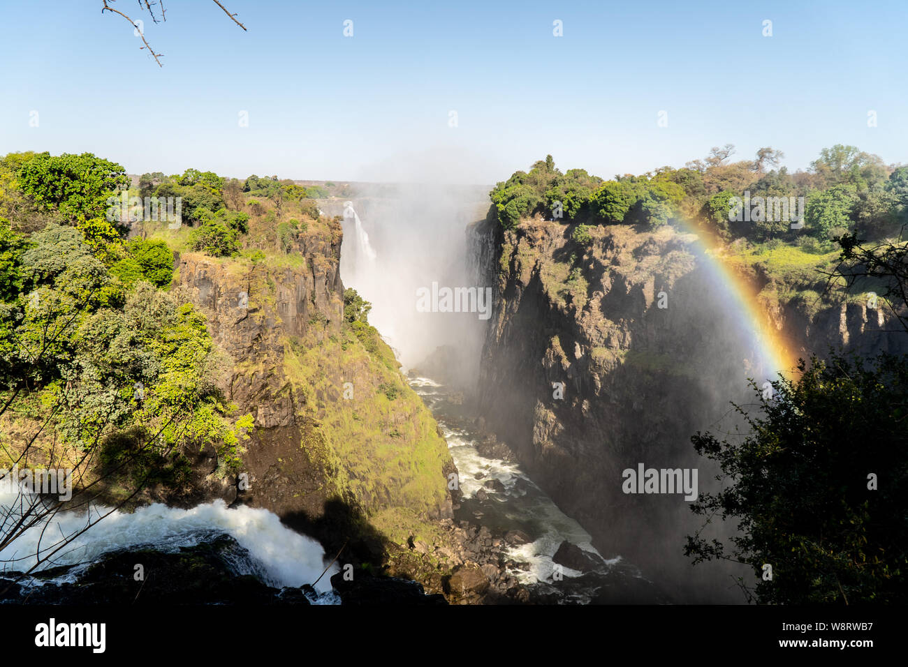
{"type": "MultiPolygon", "coordinates": [[[[173,251],[125,240],[105,215],[107,198],[128,187],[123,168],[90,153],[22,153],[6,156],[0,175],[0,206],[28,222],[0,218],[0,415],[37,427],[22,441],[4,432],[5,458],[47,440],[98,450],[105,465],[135,463],[139,451],[160,459],[155,471],[124,468],[135,482],[192,447],[213,446],[224,469],[235,466],[252,418],[232,417],[215,387],[221,356],[202,314],[162,289],[173,251]]],[[[217,185],[190,176],[179,187],[217,185]]]]}

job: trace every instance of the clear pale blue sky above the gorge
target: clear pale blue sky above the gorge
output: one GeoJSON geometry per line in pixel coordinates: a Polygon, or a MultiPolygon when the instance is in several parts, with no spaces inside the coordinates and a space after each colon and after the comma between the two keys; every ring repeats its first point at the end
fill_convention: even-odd
{"type": "Polygon", "coordinates": [[[6,0],[0,153],[483,183],[546,153],[611,177],[726,142],[746,158],[771,145],[793,170],[837,142],[908,162],[902,0],[224,4],[248,32],[210,0],[165,0],[163,25],[117,0],[145,20],[159,68],[101,0],[6,0]]]}

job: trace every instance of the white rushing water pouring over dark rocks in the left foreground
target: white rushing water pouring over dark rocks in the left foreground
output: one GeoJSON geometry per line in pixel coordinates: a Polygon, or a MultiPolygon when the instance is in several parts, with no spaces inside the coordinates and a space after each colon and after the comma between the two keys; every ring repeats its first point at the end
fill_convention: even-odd
{"type": "MultiPolygon", "coordinates": [[[[0,494],[0,512],[5,514],[7,507],[16,505],[17,498],[15,493],[0,494]]],[[[92,519],[108,511],[104,506],[93,507],[92,519]]],[[[60,535],[71,535],[86,523],[84,512],[58,514],[51,525],[43,522],[29,528],[0,551],[0,563],[5,564],[6,569],[25,572],[35,564],[39,543],[43,554],[47,554],[48,546],[60,535]]],[[[321,544],[282,525],[281,519],[268,510],[246,506],[231,509],[222,500],[191,509],[155,503],[140,507],[132,514],[114,512],[76,537],[38,569],[89,564],[104,552],[139,544],[152,544],[160,551],[174,552],[181,546],[200,544],[215,533],[231,535],[249,551],[252,563],[237,564],[240,571],[236,574],[256,574],[275,587],[312,584],[325,569],[321,544]]],[[[316,584],[316,590],[320,593],[331,591],[331,574],[336,572],[338,566],[332,564],[316,584]]]]}

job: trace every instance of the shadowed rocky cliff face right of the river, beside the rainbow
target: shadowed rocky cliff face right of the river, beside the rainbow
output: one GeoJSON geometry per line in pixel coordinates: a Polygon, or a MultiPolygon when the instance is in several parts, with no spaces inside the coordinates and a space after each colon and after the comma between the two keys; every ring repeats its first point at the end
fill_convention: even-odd
{"type": "MultiPolygon", "coordinates": [[[[690,436],[731,430],[729,402],[753,400],[747,378],[774,374],[762,375],[734,295],[696,237],[599,227],[586,247],[570,231],[540,220],[471,231],[481,284],[495,290],[480,413],[600,551],[656,576],[689,571],[682,547],[700,527],[689,503],[625,494],[621,473],[640,463],[698,467],[699,490],[713,490],[716,471],[696,458],[690,436]]],[[[767,317],[795,331],[795,348],[822,351],[878,345],[873,332],[885,323],[874,315],[856,303],[810,316],[776,302],[767,317]]]]}

